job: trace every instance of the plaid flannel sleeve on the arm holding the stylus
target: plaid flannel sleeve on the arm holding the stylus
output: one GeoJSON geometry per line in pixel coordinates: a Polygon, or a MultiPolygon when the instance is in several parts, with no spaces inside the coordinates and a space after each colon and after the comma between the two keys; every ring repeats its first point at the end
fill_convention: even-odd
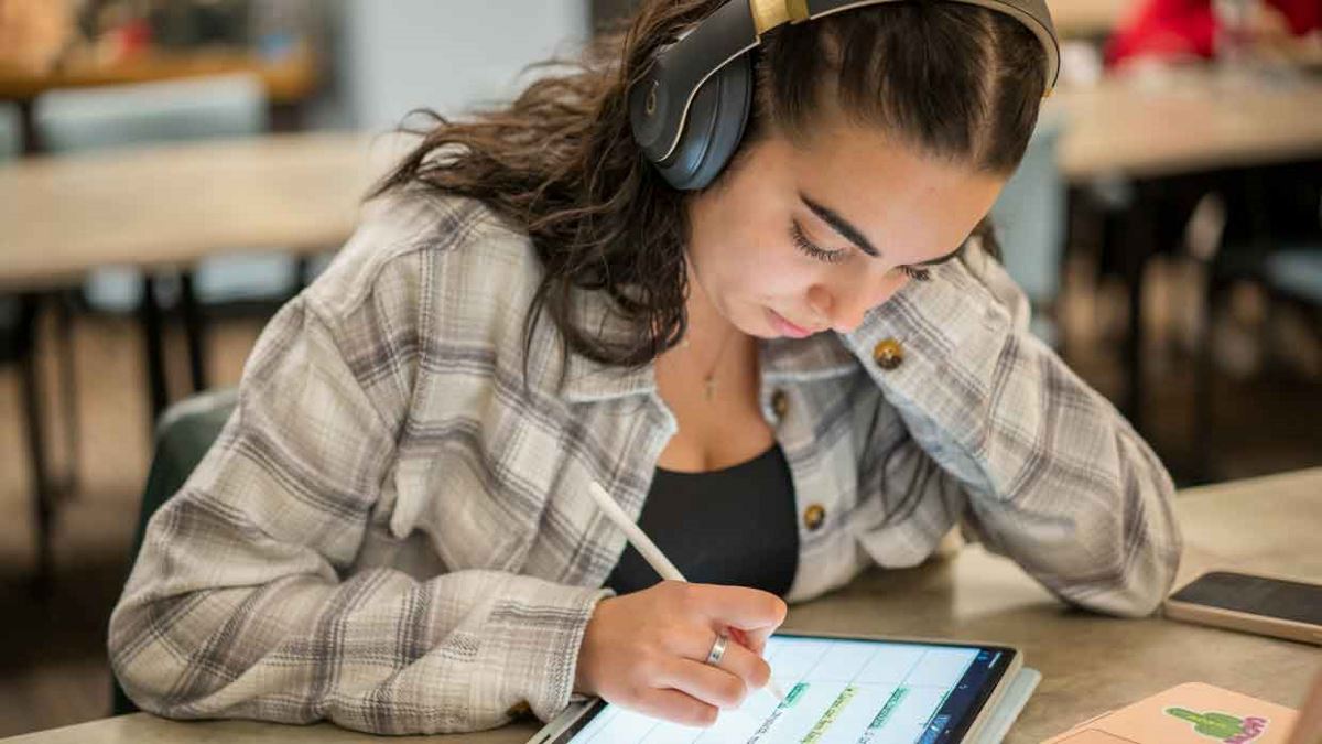
{"type": "Polygon", "coordinates": [[[407,398],[369,395],[385,385],[338,339],[379,339],[371,373],[407,385],[415,331],[391,310],[407,304],[369,298],[332,322],[300,297],[262,334],[235,413],[151,520],[110,621],[111,663],[141,708],[427,733],[527,708],[550,719],[568,703],[603,590],[496,571],[350,571],[407,398]]]}

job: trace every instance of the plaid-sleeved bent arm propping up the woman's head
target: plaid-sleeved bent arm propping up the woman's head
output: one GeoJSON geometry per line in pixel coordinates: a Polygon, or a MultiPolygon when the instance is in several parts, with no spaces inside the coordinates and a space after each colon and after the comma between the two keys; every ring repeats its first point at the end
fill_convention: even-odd
{"type": "MultiPolygon", "coordinates": [[[[1060,597],[1146,614],[1174,580],[1174,486],[1116,409],[1027,332],[1026,303],[982,254],[906,287],[849,342],[921,453],[894,467],[940,466],[912,481],[994,551],[1060,597]],[[903,348],[892,369],[876,344],[903,348]],[[867,355],[867,356],[865,356],[867,355]],[[903,465],[908,461],[908,465],[903,465]],[[956,492],[962,492],[962,499],[956,492]]],[[[894,500],[894,499],[892,499],[894,500]]],[[[931,506],[920,508],[929,526],[931,506]]]]}

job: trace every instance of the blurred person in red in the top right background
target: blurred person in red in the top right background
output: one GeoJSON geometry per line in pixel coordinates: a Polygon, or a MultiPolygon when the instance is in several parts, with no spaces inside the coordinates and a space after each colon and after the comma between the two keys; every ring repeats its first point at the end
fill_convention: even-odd
{"type": "MultiPolygon", "coordinates": [[[[1260,40],[1322,29],[1322,0],[1240,0],[1251,5],[1249,34],[1260,40]]],[[[1107,45],[1107,65],[1134,57],[1203,57],[1216,53],[1222,21],[1214,0],[1141,0],[1107,45]]]]}

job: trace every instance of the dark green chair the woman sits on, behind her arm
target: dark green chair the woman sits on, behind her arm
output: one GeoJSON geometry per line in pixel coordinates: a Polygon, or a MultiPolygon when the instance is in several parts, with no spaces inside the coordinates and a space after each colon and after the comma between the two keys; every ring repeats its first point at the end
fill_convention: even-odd
{"type": "MultiPolygon", "coordinates": [[[[237,389],[214,391],[182,400],[161,416],[156,426],[156,453],[152,455],[152,467],[143,488],[143,504],[137,515],[137,530],[134,532],[130,565],[137,560],[137,551],[143,547],[147,522],[184,486],[202,455],[219,437],[237,402],[237,389]]],[[[136,711],[137,707],[124,695],[119,680],[111,676],[111,684],[114,686],[112,715],[136,711]]]]}

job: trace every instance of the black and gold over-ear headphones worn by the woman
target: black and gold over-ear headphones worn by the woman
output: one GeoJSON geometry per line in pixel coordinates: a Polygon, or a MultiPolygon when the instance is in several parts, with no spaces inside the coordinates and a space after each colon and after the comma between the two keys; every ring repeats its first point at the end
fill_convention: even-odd
{"type": "MultiPolygon", "coordinates": [[[[677,189],[710,184],[739,147],[752,105],[750,50],[761,34],[841,11],[900,0],[727,0],[689,33],[661,48],[629,87],[633,139],[677,189]]],[[[1047,52],[1047,93],[1060,46],[1046,0],[944,0],[1006,13],[1047,52]]]]}

